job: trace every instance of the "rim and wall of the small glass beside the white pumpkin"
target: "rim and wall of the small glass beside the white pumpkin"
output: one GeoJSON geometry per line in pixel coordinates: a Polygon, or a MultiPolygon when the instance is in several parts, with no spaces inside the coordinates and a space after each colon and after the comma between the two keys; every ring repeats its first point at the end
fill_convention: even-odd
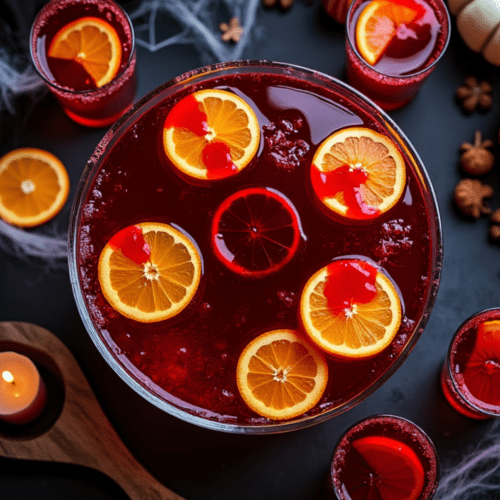
{"type": "Polygon", "coordinates": [[[417,94],[423,81],[431,74],[444,54],[450,40],[450,16],[443,0],[426,0],[441,25],[433,53],[419,71],[393,76],[377,71],[360,55],[356,47],[356,22],[367,0],[354,0],[347,13],[346,51],[349,83],[372,99],[382,109],[391,111],[407,104],[417,94]]]}

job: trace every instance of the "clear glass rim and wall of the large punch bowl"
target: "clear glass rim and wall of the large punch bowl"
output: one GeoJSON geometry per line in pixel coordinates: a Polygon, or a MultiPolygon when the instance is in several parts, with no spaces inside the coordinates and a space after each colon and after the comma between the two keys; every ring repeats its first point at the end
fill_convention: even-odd
{"type": "MultiPolygon", "coordinates": [[[[304,98],[309,99],[307,102],[310,102],[309,94],[305,93],[304,98]]],[[[321,131],[321,128],[317,130],[321,131]]],[[[139,145],[134,147],[137,149],[139,145]]],[[[140,151],[141,149],[139,148],[137,150],[140,151]]],[[[157,156],[154,156],[154,158],[157,158],[157,156]]],[[[126,174],[126,168],[121,168],[119,166],[121,163],[121,161],[113,161],[113,166],[111,167],[112,169],[118,168],[119,172],[117,171],[117,174],[120,176],[126,174]]],[[[137,168],[142,169],[141,172],[144,171],[142,165],[137,165],[137,168]]],[[[160,169],[158,170],[158,175],[164,175],[164,173],[162,173],[163,170],[161,170],[164,167],[159,166],[158,168],[160,169]]],[[[170,179],[171,180],[168,181],[170,184],[172,184],[172,182],[177,182],[177,180],[174,181],[174,178],[170,179]]],[[[134,187],[134,189],[136,188],[134,187]]],[[[163,190],[163,187],[161,189],[163,190]]],[[[123,189],[120,192],[123,192],[123,189]]],[[[126,191],[123,200],[126,201],[129,195],[129,191],[126,191]]],[[[131,206],[130,203],[132,202],[130,201],[128,203],[129,206],[131,206]]],[[[108,206],[107,202],[106,206],[108,206]]],[[[133,204],[132,207],[136,207],[138,210],[137,214],[135,211],[133,212],[135,217],[140,214],[144,217],[144,209],[141,203],[133,204]]],[[[101,215],[101,217],[103,217],[103,215],[101,215]]],[[[105,217],[106,221],[108,221],[109,217],[105,217]]],[[[203,244],[205,245],[205,243],[203,244]]],[[[137,102],[125,116],[111,127],[90,158],[77,187],[70,221],[69,268],[73,293],[84,325],[104,359],[134,391],[158,408],[192,424],[231,433],[267,434],[307,427],[352,408],[374,392],[396,371],[404,359],[406,359],[422,334],[436,298],[441,276],[441,265],[441,222],[435,195],[417,152],[398,126],[360,93],[352,90],[349,86],[331,76],[298,66],[267,61],[236,61],[200,68],[161,85],[137,102]],[[130,360],[122,355],[123,352],[117,348],[114,342],[111,342],[109,335],[103,332],[98,324],[99,319],[95,316],[95,312],[96,308],[99,308],[99,302],[89,299],[88,293],[86,292],[86,290],[89,291],[89,286],[94,286],[92,283],[95,283],[95,280],[88,275],[86,269],[89,268],[86,267],[86,265],[88,264],[92,269],[95,269],[95,259],[99,257],[96,255],[96,252],[98,253],[100,251],[98,248],[94,247],[92,250],[88,247],[88,231],[92,230],[89,224],[96,228],[97,231],[100,230],[96,226],[96,217],[98,216],[97,207],[90,206],[87,201],[89,196],[93,196],[95,190],[102,193],[102,188],[105,183],[113,182],[113,184],[109,184],[110,189],[120,190],[123,188],[120,186],[120,182],[118,182],[116,176],[113,176],[112,172],[110,172],[107,167],[105,168],[109,156],[113,155],[115,152],[124,154],[123,148],[120,147],[120,144],[122,146],[124,145],[123,138],[129,137],[130,140],[133,140],[134,144],[136,144],[139,140],[138,137],[140,133],[147,130],[147,137],[150,138],[148,152],[151,154],[151,157],[153,158],[154,155],[164,154],[161,141],[163,130],[161,112],[162,110],[164,112],[165,105],[163,103],[166,100],[168,102],[168,99],[172,96],[177,98],[177,93],[180,91],[183,91],[185,94],[189,89],[203,88],[205,82],[211,82],[210,85],[212,85],[212,82],[215,82],[215,85],[220,85],[224,77],[238,79],[243,77],[251,78],[253,82],[253,91],[262,92],[260,90],[259,79],[262,80],[264,76],[268,79],[280,78],[280,81],[284,81],[283,79],[300,80],[300,82],[304,82],[304,85],[308,85],[309,87],[313,86],[313,88],[321,88],[323,92],[332,93],[340,102],[352,103],[352,106],[355,106],[356,109],[363,112],[363,116],[369,116],[370,122],[376,124],[379,130],[384,130],[384,133],[392,137],[393,140],[398,143],[403,155],[408,161],[408,168],[411,168],[414,172],[414,177],[412,177],[412,179],[415,179],[416,184],[419,186],[418,189],[422,193],[423,203],[425,203],[425,210],[427,211],[427,217],[429,219],[430,245],[428,250],[426,250],[426,253],[427,251],[429,252],[428,281],[425,282],[421,289],[421,301],[419,299],[418,315],[415,316],[415,322],[410,324],[407,331],[405,331],[406,333],[401,339],[401,343],[398,344],[395,353],[387,358],[388,361],[383,365],[383,369],[379,369],[376,376],[374,375],[369,381],[363,382],[364,385],[362,390],[358,390],[356,393],[353,391],[352,396],[349,395],[349,398],[341,403],[332,403],[326,407],[322,405],[318,407],[313,414],[302,415],[289,421],[269,421],[263,424],[261,422],[252,423],[252,421],[241,423],[232,417],[229,421],[220,421],[214,418],[209,410],[204,412],[193,411],[192,406],[191,408],[186,408],[179,402],[179,399],[169,395],[167,391],[156,387],[149,377],[146,377],[142,373],[138,373],[138,370],[135,369],[130,360]],[[149,124],[148,121],[148,126],[146,128],[145,123],[141,122],[141,117],[143,116],[147,116],[148,120],[149,117],[151,118],[151,124],[149,124]],[[87,264],[84,265],[83,262],[87,264]]],[[[93,272],[94,271],[92,271],[92,273],[93,272]]]]}

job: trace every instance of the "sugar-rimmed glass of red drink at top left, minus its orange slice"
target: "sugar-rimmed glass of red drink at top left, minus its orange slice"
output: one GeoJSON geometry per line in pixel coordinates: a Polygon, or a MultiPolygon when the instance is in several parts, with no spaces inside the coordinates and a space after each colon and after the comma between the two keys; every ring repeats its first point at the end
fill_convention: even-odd
{"type": "Polygon", "coordinates": [[[36,70],[75,122],[87,127],[107,127],[132,105],[137,90],[134,30],[127,13],[113,0],[51,0],[31,27],[30,51],[36,70]],[[122,45],[122,62],[116,76],[105,85],[74,90],[55,80],[46,51],[63,26],[86,16],[102,18],[116,29],[122,45]]]}

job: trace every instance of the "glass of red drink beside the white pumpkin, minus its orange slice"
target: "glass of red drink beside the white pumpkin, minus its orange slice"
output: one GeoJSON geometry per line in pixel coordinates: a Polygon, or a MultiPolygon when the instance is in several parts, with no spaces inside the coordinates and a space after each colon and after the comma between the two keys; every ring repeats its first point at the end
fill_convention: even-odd
{"type": "Polygon", "coordinates": [[[430,74],[433,63],[446,47],[449,35],[446,7],[436,0],[399,0],[418,11],[415,20],[397,28],[385,53],[370,66],[356,46],[356,23],[370,2],[358,0],[348,19],[350,45],[347,42],[349,82],[373,99],[383,109],[396,109],[406,104],[430,74]]]}

